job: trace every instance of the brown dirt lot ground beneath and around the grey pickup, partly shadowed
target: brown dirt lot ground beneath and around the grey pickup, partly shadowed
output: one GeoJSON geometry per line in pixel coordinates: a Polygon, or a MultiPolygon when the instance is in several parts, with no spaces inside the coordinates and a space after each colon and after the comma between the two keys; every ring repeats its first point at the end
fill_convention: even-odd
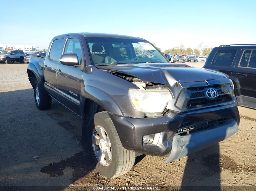
{"type": "Polygon", "coordinates": [[[127,174],[105,179],[79,144],[81,119],[54,100],[50,110],[37,110],[26,67],[0,63],[0,186],[255,189],[256,110],[239,107],[239,131],[228,140],[169,164],[166,158],[141,156],[127,174]]]}

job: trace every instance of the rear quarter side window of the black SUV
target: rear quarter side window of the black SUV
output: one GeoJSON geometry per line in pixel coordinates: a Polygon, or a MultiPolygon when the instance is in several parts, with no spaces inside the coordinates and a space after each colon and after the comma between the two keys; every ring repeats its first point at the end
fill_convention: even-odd
{"type": "Polygon", "coordinates": [[[218,66],[231,66],[237,50],[218,50],[211,64],[218,66]]]}

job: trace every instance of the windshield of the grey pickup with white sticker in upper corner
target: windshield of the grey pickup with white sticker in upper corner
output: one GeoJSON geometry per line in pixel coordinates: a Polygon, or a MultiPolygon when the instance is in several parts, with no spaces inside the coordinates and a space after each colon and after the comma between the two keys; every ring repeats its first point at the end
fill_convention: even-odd
{"type": "Polygon", "coordinates": [[[169,63],[148,41],[124,38],[87,37],[93,65],[111,63],[169,63]]]}

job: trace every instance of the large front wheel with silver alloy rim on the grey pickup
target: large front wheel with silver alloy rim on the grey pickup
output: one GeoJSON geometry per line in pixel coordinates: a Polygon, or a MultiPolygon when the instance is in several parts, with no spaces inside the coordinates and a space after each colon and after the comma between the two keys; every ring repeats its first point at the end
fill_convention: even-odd
{"type": "MultiPolygon", "coordinates": [[[[102,131],[99,131],[99,132],[102,132],[102,131]]],[[[135,152],[128,151],[123,147],[120,141],[120,138],[117,134],[117,131],[115,129],[115,126],[106,111],[96,113],[94,117],[92,117],[89,120],[88,126],[87,126],[86,138],[91,150],[92,157],[95,162],[95,168],[104,177],[115,178],[115,177],[121,176],[122,174],[127,173],[133,167],[135,162],[135,152]],[[105,136],[101,136],[101,137],[105,137],[103,142],[99,141],[98,143],[96,143],[95,141],[96,138],[94,137],[96,136],[100,137],[99,136],[100,134],[98,133],[98,131],[96,131],[96,129],[103,130],[103,133],[101,133],[105,135],[105,136]],[[93,140],[95,144],[92,144],[93,140]],[[109,147],[107,148],[105,147],[107,152],[106,151],[104,152],[103,151],[104,149],[101,149],[101,148],[104,148],[103,146],[101,148],[99,146],[101,143],[104,143],[104,142],[107,143],[105,145],[111,145],[110,149],[109,147]],[[110,151],[111,160],[107,161],[106,160],[107,158],[104,157],[102,158],[103,160],[100,162],[100,160],[98,160],[95,154],[95,153],[98,153],[97,150],[98,152],[101,152],[103,154],[105,153],[105,155],[101,155],[103,157],[108,155],[110,151]]]]}

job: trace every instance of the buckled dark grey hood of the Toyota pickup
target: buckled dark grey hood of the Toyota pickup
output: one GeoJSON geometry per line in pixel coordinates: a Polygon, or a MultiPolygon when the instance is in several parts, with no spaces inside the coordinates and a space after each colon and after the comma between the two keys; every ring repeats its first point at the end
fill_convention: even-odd
{"type": "Polygon", "coordinates": [[[122,64],[122,65],[101,65],[97,68],[127,74],[140,78],[142,81],[148,81],[159,84],[173,86],[176,82],[195,82],[207,81],[219,78],[226,78],[220,72],[204,68],[195,68],[186,64],[122,64]]]}

